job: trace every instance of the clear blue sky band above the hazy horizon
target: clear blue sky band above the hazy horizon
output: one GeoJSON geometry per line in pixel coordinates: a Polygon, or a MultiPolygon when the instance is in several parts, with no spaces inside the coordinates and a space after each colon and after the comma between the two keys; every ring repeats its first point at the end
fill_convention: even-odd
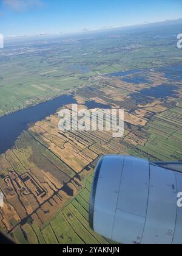
{"type": "Polygon", "coordinates": [[[0,33],[81,32],[182,18],[182,0],[0,0],[0,33]]]}

